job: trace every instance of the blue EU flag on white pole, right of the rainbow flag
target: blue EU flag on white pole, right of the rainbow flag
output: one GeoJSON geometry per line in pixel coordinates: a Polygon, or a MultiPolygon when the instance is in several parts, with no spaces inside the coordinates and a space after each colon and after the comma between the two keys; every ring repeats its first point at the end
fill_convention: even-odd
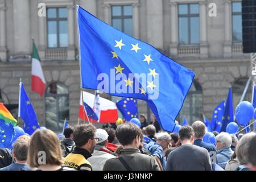
{"type": "Polygon", "coordinates": [[[23,130],[25,133],[32,135],[36,129],[39,129],[38,118],[35,110],[23,88],[22,82],[19,84],[19,113],[18,116],[23,119],[23,130]]]}

